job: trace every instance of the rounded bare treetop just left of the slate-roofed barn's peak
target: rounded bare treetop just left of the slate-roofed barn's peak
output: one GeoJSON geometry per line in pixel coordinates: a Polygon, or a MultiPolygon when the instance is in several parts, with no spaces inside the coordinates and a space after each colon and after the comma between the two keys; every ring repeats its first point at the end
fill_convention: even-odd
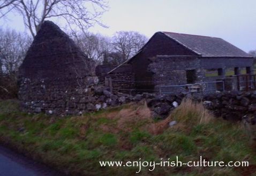
{"type": "Polygon", "coordinates": [[[136,31],[118,31],[112,37],[114,51],[122,54],[120,62],[124,62],[137,53],[147,42],[147,37],[136,31]]]}

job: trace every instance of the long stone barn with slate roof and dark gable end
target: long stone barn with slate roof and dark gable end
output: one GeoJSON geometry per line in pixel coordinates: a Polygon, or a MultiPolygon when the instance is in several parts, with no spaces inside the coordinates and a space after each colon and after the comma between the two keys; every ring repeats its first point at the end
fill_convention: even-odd
{"type": "MultiPolygon", "coordinates": [[[[221,38],[170,32],[155,33],[131,59],[107,72],[113,85],[131,82],[137,92],[159,92],[164,85],[215,82],[240,74],[253,74],[253,58],[238,47],[221,38]],[[130,80],[115,81],[116,75],[122,79],[126,67],[130,68],[130,80]]],[[[205,86],[208,90],[217,90],[215,83],[205,86]]],[[[126,89],[125,86],[113,87],[126,89]]]]}

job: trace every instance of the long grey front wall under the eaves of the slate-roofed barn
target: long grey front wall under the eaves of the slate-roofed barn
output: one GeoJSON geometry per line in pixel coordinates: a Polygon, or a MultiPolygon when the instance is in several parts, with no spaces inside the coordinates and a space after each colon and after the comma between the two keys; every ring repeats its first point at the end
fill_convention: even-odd
{"type": "MultiPolygon", "coordinates": [[[[225,68],[252,67],[251,58],[200,58],[183,56],[158,56],[148,66],[152,71],[154,89],[159,91],[162,85],[185,85],[187,84],[186,70],[196,70],[197,80],[195,83],[216,82],[225,80],[225,68]],[[223,75],[206,77],[205,69],[223,69],[223,75]]],[[[232,83],[233,84],[233,83],[232,83]]],[[[165,92],[183,91],[180,87],[162,87],[165,92]]],[[[207,83],[205,90],[221,90],[222,83],[207,83]]]]}

